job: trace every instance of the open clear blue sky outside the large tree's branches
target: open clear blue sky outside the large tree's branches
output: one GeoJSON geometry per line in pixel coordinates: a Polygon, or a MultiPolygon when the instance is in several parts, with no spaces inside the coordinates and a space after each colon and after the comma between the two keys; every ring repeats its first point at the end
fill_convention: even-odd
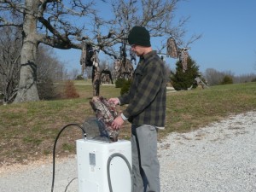
{"type": "MultiPolygon", "coordinates": [[[[189,50],[202,73],[207,68],[235,75],[256,73],[256,0],[189,0],[178,4],[175,15],[190,16],[185,40],[202,34],[189,50]]],[[[68,70],[80,69],[80,50],[55,49],[55,53],[68,70]]],[[[176,61],[166,59],[171,68],[176,61]]]]}

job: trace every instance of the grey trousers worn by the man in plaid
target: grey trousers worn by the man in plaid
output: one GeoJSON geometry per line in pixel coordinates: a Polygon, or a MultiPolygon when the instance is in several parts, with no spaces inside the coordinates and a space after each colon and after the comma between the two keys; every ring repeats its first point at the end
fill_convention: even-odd
{"type": "Polygon", "coordinates": [[[157,128],[131,125],[133,192],[160,192],[157,128]]]}

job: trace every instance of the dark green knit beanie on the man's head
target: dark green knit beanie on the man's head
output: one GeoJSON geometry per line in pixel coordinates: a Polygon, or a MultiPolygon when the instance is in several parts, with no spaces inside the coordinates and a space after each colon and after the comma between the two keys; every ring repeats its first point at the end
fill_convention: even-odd
{"type": "Polygon", "coordinates": [[[148,30],[143,26],[134,26],[128,35],[129,44],[141,45],[143,47],[150,47],[150,35],[148,30]]]}

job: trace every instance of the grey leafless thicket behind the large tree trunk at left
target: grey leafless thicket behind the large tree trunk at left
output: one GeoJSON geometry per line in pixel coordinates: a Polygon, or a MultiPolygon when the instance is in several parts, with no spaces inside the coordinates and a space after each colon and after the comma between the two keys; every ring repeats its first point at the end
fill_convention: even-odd
{"type": "MultiPolygon", "coordinates": [[[[20,73],[21,33],[14,27],[0,28],[0,94],[3,104],[13,102],[17,93],[20,73]]],[[[38,95],[40,99],[57,96],[53,82],[66,78],[66,70],[55,58],[53,49],[40,46],[38,49],[38,95]]]]}

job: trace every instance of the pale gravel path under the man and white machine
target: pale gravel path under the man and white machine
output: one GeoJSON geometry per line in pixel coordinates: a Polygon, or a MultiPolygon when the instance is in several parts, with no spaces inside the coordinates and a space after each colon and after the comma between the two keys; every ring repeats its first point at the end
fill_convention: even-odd
{"type": "MultiPolygon", "coordinates": [[[[230,116],[159,143],[162,192],[256,192],[256,112],[230,116]]],[[[0,169],[1,192],[50,191],[51,160],[0,169]]],[[[55,192],[75,177],[76,160],[56,160],[55,192]]],[[[78,191],[78,179],[67,191],[78,191]]]]}

